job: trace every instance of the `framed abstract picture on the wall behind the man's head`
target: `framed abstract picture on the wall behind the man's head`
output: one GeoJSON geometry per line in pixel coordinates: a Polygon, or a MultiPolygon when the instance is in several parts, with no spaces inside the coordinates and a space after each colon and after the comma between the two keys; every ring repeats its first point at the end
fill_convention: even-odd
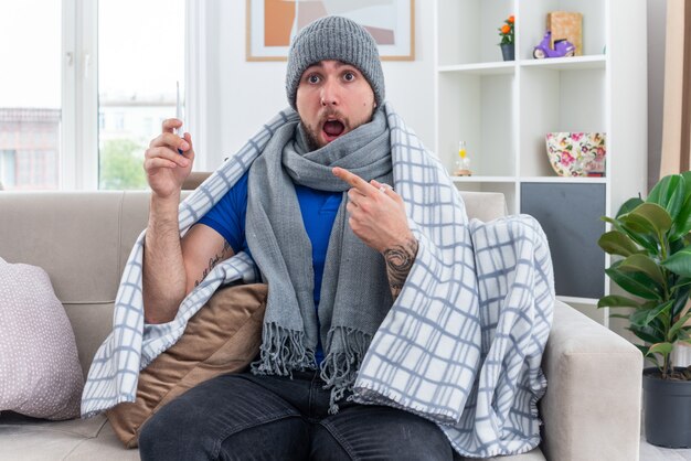
{"type": "Polygon", "coordinates": [[[415,60],[415,0],[247,0],[247,61],[285,61],[290,39],[327,15],[364,26],[383,61],[415,60]]]}

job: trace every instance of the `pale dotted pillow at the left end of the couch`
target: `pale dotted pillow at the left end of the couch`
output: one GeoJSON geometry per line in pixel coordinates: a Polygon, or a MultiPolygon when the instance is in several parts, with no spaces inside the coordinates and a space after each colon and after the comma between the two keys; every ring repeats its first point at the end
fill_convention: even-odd
{"type": "Polygon", "coordinates": [[[0,411],[74,418],[83,387],[74,332],[47,274],[0,258],[0,411]]]}

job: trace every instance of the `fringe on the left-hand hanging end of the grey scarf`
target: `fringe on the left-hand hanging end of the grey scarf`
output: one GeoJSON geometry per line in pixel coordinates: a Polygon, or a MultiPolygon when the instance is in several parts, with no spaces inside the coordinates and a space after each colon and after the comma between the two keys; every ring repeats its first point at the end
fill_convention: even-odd
{"type": "Polygon", "coordinates": [[[261,358],[252,363],[255,375],[293,376],[294,371],[315,369],[315,351],[305,347],[305,332],[277,323],[264,325],[261,358]]]}

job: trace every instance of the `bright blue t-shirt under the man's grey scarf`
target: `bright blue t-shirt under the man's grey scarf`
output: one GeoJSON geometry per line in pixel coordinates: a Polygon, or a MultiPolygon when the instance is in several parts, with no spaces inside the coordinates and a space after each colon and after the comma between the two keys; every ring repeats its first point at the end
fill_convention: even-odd
{"type": "MultiPolygon", "coordinates": [[[[302,214],[305,230],[312,244],[312,269],[315,271],[315,309],[319,312],[321,280],[327,259],[329,237],[339,206],[341,192],[317,191],[304,185],[295,185],[295,192],[302,214]]],[[[233,251],[246,251],[245,216],[247,213],[247,173],[206,213],[199,223],[215,229],[231,245],[233,251]]],[[[317,315],[319,319],[319,315],[317,315]]],[[[321,339],[318,339],[315,352],[317,364],[323,360],[321,339]]]]}

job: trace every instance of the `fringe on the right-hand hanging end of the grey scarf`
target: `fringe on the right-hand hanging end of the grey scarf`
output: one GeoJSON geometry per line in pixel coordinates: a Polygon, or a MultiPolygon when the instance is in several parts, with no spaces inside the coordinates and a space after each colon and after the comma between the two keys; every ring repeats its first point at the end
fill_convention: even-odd
{"type": "Polygon", "coordinates": [[[372,335],[347,326],[336,326],[329,335],[331,336],[329,350],[336,352],[329,352],[323,358],[320,376],[326,383],[325,388],[331,387],[329,414],[336,415],[339,410],[337,401],[353,389],[372,335]],[[338,347],[334,347],[333,342],[339,343],[338,347]]]}

